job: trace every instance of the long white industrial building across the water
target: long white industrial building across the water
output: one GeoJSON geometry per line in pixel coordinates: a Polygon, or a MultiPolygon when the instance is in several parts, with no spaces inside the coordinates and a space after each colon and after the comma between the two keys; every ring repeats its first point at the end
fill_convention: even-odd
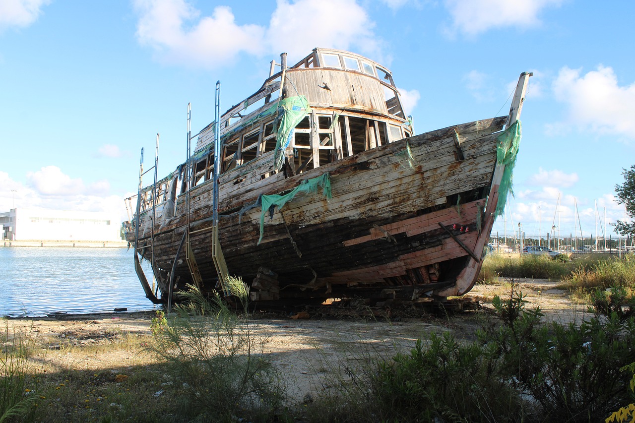
{"type": "Polygon", "coordinates": [[[0,213],[9,241],[121,241],[121,222],[110,213],[12,208],[0,213]]]}

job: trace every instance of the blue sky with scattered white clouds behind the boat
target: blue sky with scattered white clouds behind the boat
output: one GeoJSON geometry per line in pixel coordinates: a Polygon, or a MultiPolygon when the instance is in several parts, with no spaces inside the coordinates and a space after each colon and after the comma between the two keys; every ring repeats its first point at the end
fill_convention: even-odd
{"type": "Polygon", "coordinates": [[[507,114],[534,72],[507,231],[537,234],[540,208],[542,233],[565,236],[575,198],[596,236],[596,201],[623,218],[613,189],[635,163],[634,16],[632,1],[0,0],[0,210],[123,219],[141,147],[147,168],[161,134],[161,176],[184,161],[188,102],[196,133],[217,80],[225,110],[282,51],[322,46],[389,67],[417,133],[507,114]]]}

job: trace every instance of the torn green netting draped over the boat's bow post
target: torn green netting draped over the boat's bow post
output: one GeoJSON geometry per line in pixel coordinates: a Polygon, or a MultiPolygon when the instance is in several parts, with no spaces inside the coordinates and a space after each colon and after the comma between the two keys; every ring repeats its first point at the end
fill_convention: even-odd
{"type": "Polygon", "coordinates": [[[496,138],[496,159],[497,164],[503,164],[505,170],[498,187],[498,202],[496,204],[495,215],[500,216],[505,210],[507,204],[507,195],[514,195],[512,190],[512,177],[514,166],[516,166],[516,156],[518,155],[518,146],[520,145],[522,126],[519,120],[516,120],[509,128],[496,138]]]}

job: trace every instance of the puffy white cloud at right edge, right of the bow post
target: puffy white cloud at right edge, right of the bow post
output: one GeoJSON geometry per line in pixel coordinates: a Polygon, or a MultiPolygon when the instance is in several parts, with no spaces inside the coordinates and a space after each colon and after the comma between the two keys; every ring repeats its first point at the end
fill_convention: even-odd
{"type": "Polygon", "coordinates": [[[581,69],[560,69],[553,83],[556,98],[568,105],[565,122],[548,126],[564,130],[575,126],[599,134],[635,137],[635,83],[620,86],[611,67],[582,75],[581,69]]]}

